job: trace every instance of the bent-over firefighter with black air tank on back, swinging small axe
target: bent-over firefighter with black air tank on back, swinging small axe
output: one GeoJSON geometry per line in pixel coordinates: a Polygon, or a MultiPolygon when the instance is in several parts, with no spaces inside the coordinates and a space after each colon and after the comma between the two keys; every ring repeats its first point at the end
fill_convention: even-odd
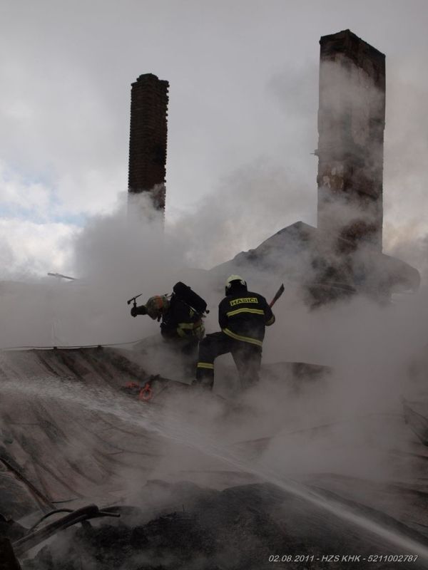
{"type": "Polygon", "coordinates": [[[195,291],[178,281],[170,295],[155,295],[141,306],[137,306],[135,299],[131,316],[148,315],[153,321],[161,321],[163,339],[183,354],[196,356],[198,342],[205,334],[202,319],[208,311],[207,304],[195,291]]]}

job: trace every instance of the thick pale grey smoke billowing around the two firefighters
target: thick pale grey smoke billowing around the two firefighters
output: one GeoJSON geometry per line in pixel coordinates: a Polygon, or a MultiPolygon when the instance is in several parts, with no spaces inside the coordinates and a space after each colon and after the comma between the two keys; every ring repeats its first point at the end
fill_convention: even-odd
{"type": "MultiPolygon", "coordinates": [[[[4,271],[8,280],[0,284],[0,347],[143,339],[146,353],[141,353],[141,345],[129,350],[128,356],[147,371],[174,379],[175,363],[168,360],[168,351],[159,348],[157,340],[153,345],[147,341],[153,335],[159,338],[158,323],[147,316],[132,318],[128,299],[141,294],[138,304],[142,304],[153,294],[170,293],[176,281],[184,281],[208,301],[211,312],[205,327],[210,333],[218,330],[217,306],[230,272],[242,273],[249,289],[267,300],[285,281],[285,294],[274,308],[277,321],[266,331],[260,385],[243,395],[238,410],[230,414],[216,401],[167,399],[171,423],[179,420],[181,435],[187,433],[200,445],[183,450],[174,440],[168,442],[161,460],[153,461],[144,477],[183,477],[218,485],[221,458],[203,456],[204,437],[230,449],[238,443],[276,473],[313,477],[315,482],[329,472],[387,482],[414,476],[408,463],[397,466],[388,452],[408,452],[414,445],[414,436],[401,417],[402,395],[409,399],[427,395],[424,375],[409,380],[409,365],[428,342],[424,286],[387,306],[357,296],[311,311],[302,301],[299,281],[289,279],[291,270],[300,277],[312,276],[297,243],[272,253],[276,269],[259,263],[234,271],[231,266],[208,271],[302,217],[310,188],[298,171],[296,175],[290,170],[285,172],[269,160],[237,170],[192,212],[173,221],[167,217],[165,232],[163,219],[151,210],[146,197],[136,197],[129,204],[130,215],[127,198],[121,196],[113,213],[88,219],[74,236],[64,232],[61,247],[46,253],[54,264],[52,271],[71,274],[76,281],[35,279],[34,272],[41,272],[46,263],[32,263],[32,279],[24,279],[26,259],[16,261],[7,244],[2,249],[4,265],[11,269],[4,271]],[[11,282],[12,278],[19,282],[11,282]],[[298,375],[292,363],[329,370],[322,375],[298,375]],[[265,442],[260,443],[260,438],[265,442]]],[[[391,177],[386,178],[391,184],[391,177]]],[[[315,181],[313,195],[315,211],[315,181]]],[[[337,204],[336,217],[352,219],[349,214],[348,204],[337,204]]],[[[385,247],[425,271],[426,238],[422,231],[412,230],[412,224],[398,223],[395,217],[386,226],[385,247]]],[[[230,357],[221,357],[215,366],[215,394],[229,397],[237,388],[233,363],[230,357]]],[[[96,442],[92,443],[95,449],[96,442]]],[[[73,450],[73,457],[83,456],[88,449],[82,445],[73,450]]],[[[138,497],[143,477],[126,470],[121,475],[129,495],[138,497]]],[[[399,497],[392,497],[390,503],[396,507],[398,502],[399,497]]]]}

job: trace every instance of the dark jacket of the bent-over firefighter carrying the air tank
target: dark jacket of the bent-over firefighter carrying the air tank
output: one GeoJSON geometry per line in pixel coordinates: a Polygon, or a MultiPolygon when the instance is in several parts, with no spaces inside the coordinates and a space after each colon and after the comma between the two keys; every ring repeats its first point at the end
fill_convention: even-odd
{"type": "Polygon", "coordinates": [[[161,335],[164,338],[203,338],[202,316],[187,303],[172,296],[170,307],[162,316],[161,335]]]}

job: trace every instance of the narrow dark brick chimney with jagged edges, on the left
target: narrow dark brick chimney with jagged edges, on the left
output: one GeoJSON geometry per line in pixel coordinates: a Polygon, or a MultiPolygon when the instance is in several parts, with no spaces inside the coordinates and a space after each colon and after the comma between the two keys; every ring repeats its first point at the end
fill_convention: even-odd
{"type": "Polygon", "coordinates": [[[128,195],[150,192],[154,207],[165,210],[168,81],[153,73],[131,87],[128,195]]]}

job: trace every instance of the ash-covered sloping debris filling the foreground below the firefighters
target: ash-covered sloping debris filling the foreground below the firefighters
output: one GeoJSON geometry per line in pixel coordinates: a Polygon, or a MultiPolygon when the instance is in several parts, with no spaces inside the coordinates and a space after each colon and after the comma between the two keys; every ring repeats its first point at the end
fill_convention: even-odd
{"type": "Polygon", "coordinates": [[[428,450],[399,401],[332,420],[330,368],[270,363],[239,399],[220,366],[214,395],[162,386],[143,403],[120,388],[144,358],[141,344],[1,353],[4,517],[120,514],[56,532],[24,570],[425,567],[428,450]],[[368,561],[406,554],[419,561],[368,561]]]}

